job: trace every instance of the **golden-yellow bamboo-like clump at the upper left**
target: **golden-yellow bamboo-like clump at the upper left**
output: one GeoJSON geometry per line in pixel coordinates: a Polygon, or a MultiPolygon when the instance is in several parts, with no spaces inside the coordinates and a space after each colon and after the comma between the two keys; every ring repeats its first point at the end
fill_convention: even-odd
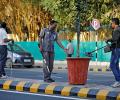
{"type": "Polygon", "coordinates": [[[5,21],[17,41],[37,40],[38,32],[48,25],[51,14],[41,6],[21,0],[1,0],[0,20],[5,21]],[[27,34],[27,35],[26,35],[27,34]]]}

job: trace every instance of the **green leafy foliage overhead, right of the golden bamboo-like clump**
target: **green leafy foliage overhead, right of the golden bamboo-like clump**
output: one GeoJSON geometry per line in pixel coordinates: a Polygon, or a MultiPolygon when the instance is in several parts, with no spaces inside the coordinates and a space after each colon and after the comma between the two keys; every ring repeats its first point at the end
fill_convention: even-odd
{"type": "MultiPolygon", "coordinates": [[[[76,6],[80,6],[80,22],[90,22],[97,18],[102,24],[108,24],[112,17],[120,17],[120,0],[26,0],[41,5],[59,22],[59,29],[73,29],[77,15],[76,6]],[[80,3],[79,3],[80,2],[80,3]],[[118,11],[114,11],[117,9],[118,11]]],[[[82,26],[81,25],[81,26],[82,26]]]]}

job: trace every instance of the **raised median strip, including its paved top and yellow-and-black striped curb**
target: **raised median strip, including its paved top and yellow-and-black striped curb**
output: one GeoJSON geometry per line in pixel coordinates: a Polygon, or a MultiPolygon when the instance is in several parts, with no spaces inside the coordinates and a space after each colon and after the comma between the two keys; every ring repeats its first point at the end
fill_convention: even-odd
{"type": "Polygon", "coordinates": [[[96,98],[96,100],[120,100],[120,87],[86,84],[69,85],[67,82],[44,83],[42,80],[8,78],[0,79],[0,88],[50,95],[75,96],[80,98],[96,98]]]}

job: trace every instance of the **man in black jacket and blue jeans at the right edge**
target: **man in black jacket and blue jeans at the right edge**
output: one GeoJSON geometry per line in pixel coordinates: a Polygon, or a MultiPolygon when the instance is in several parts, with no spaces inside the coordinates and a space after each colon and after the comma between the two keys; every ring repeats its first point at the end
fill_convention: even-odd
{"type": "Polygon", "coordinates": [[[119,59],[120,59],[120,27],[119,27],[119,19],[112,19],[112,39],[107,40],[107,42],[111,42],[111,61],[110,67],[115,76],[116,82],[112,85],[112,87],[120,86],[120,69],[119,69],[119,59]]]}

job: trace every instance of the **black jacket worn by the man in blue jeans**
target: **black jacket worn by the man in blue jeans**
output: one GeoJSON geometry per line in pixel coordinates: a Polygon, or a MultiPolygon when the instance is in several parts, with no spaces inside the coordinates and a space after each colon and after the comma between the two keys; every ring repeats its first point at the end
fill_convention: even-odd
{"type": "Polygon", "coordinates": [[[120,27],[117,27],[112,33],[112,39],[107,42],[111,42],[111,48],[120,48],[120,27]]]}

